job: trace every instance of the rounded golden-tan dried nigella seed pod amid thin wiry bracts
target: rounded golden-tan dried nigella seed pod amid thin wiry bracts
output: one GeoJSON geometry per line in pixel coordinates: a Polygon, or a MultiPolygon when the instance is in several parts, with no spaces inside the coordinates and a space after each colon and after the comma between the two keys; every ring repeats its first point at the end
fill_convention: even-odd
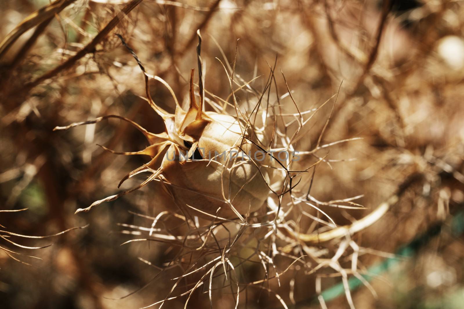
{"type": "Polygon", "coordinates": [[[174,201],[208,219],[232,218],[258,210],[269,195],[267,183],[273,173],[263,166],[271,165],[271,159],[263,151],[258,153],[262,134],[250,126],[245,130],[243,121],[231,115],[202,112],[201,103],[199,107],[193,95],[193,70],[189,110],[184,112],[177,106],[174,118],[177,130],[171,134],[192,143],[187,154],[182,153],[182,145],[170,143],[158,168],[170,184],[167,189],[174,201]],[[256,142],[250,139],[252,135],[256,142]],[[186,160],[195,150],[202,159],[186,160]],[[252,158],[244,160],[245,153],[252,158]],[[253,164],[255,154],[262,156],[258,160],[266,164],[253,164]]]}

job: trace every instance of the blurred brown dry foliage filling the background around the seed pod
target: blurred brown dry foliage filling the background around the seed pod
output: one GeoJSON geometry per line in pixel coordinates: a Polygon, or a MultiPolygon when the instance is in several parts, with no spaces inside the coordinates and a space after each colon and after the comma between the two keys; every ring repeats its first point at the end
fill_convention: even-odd
{"type": "MultiPolygon", "coordinates": [[[[319,200],[364,195],[359,203],[372,209],[407,175],[425,174],[425,181],[406,192],[391,212],[355,235],[357,243],[372,250],[366,253],[376,253],[362,256],[361,267],[391,258],[387,253],[398,252],[437,224],[440,231],[377,274],[371,281],[377,297],[364,286],[353,291],[356,308],[462,307],[464,239],[449,228],[464,202],[462,1],[143,0],[71,62],[130,1],[61,2],[69,3],[26,31],[0,58],[1,209],[28,208],[0,213],[0,224],[27,235],[90,226],[52,240],[22,241],[25,246],[53,243],[33,253],[19,248],[43,259],[24,258],[32,266],[0,252],[1,308],[140,308],[167,295],[168,279],[150,282],[157,269],[137,257],[161,266],[172,257],[170,246],[120,246],[131,237],[117,233],[121,223],[146,225],[133,213],[154,216],[173,207],[157,198],[155,184],[90,213],[74,214],[77,208],[113,194],[119,179],[144,163],[141,158],[110,154],[96,144],[136,151],[145,146],[143,136],[116,120],[66,132],[52,129],[119,114],[159,132],[161,120],[139,97],[144,95],[142,73],[115,34],[124,37],[148,73],[164,78],[178,98],[187,98],[188,73],[196,67],[197,29],[203,35],[205,87],[220,98],[226,99],[231,91],[215,58],[232,63],[236,44],[236,76],[250,81],[263,75],[251,82],[256,89],[264,89],[277,61],[272,100],[287,92],[280,69],[300,110],[321,105],[340,87],[323,141],[362,140],[335,145],[327,152],[329,159],[339,162],[318,166],[311,192],[319,200]],[[63,69],[56,70],[60,66],[63,69]],[[147,283],[134,295],[110,299],[147,283]]],[[[0,38],[50,3],[0,0],[0,38]]],[[[152,96],[173,111],[174,102],[160,85],[150,82],[152,96]]],[[[236,95],[240,105],[249,104],[246,90],[236,95]]],[[[282,108],[296,113],[288,97],[282,108]]],[[[317,141],[331,108],[326,105],[311,120],[298,150],[307,151],[317,141]]],[[[316,161],[308,158],[304,164],[316,161]]],[[[302,183],[308,184],[309,178],[302,183]]],[[[369,212],[324,210],[337,224],[369,212]]],[[[260,265],[246,267],[251,277],[262,279],[260,265]]],[[[290,308],[319,307],[314,302],[314,275],[295,265],[280,281],[280,286],[275,279],[264,285],[290,308]]],[[[339,277],[329,276],[322,280],[322,288],[339,282],[339,277]]],[[[246,291],[241,308],[280,306],[268,290],[246,291]]],[[[335,296],[327,302],[329,308],[348,308],[344,293],[335,296]]],[[[166,305],[182,308],[184,302],[179,298],[166,305]]],[[[216,305],[232,308],[234,299],[225,294],[216,305]]],[[[203,308],[209,302],[195,293],[189,306],[203,308]]]]}

